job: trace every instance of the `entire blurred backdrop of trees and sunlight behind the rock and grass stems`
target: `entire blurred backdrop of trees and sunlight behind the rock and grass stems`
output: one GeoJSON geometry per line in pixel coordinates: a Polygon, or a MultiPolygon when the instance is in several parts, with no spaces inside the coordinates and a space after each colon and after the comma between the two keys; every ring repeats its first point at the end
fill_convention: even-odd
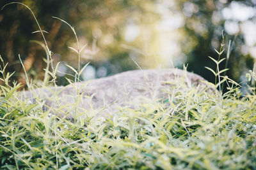
{"type": "MultiPolygon", "coordinates": [[[[12,1],[1,0],[0,6],[12,1]]],[[[217,59],[224,30],[225,49],[234,41],[227,75],[243,81],[256,58],[256,0],[22,0],[35,13],[53,52],[54,64],[61,61],[59,71],[72,73],[65,64],[77,67],[77,48],[70,27],[74,26],[80,46],[81,66],[90,64],[83,80],[100,78],[131,69],[179,67],[188,64],[188,71],[214,82],[205,66],[215,70],[208,56],[217,59]],[[135,62],[136,63],[135,63],[135,62]]],[[[25,84],[20,54],[29,77],[44,79],[46,57],[44,43],[31,12],[20,4],[10,4],[0,11],[0,55],[8,62],[8,71],[15,71],[14,80],[25,84]]],[[[227,50],[222,57],[226,57],[227,50]]],[[[221,65],[223,69],[225,62],[221,65]]],[[[66,85],[58,73],[58,85],[66,85]]]]}

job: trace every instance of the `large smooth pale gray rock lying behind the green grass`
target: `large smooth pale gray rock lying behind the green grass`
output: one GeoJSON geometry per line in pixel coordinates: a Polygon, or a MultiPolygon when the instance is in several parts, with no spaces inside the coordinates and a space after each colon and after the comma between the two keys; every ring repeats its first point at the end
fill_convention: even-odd
{"type": "Polygon", "coordinates": [[[179,85],[180,81],[184,81],[189,87],[206,87],[202,80],[205,81],[201,76],[181,69],[133,70],[74,83],[67,87],[25,91],[21,96],[26,99],[32,94],[32,98],[44,101],[44,110],[56,111],[61,117],[73,118],[78,116],[76,110],[77,113],[90,112],[100,115],[113,113],[118,106],[133,107],[138,99],[145,97],[166,98],[168,97],[166,90],[170,89],[170,86],[179,85]],[[63,108],[62,112],[61,108],[63,108]],[[69,114],[65,115],[67,113],[69,114]]]}

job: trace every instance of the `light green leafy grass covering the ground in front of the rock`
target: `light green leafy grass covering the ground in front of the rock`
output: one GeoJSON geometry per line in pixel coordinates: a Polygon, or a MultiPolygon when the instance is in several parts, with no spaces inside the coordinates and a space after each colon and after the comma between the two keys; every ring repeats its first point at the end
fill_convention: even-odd
{"type": "MultiPolygon", "coordinates": [[[[51,50],[44,47],[51,64],[51,50]]],[[[121,108],[108,117],[88,113],[74,121],[56,117],[54,110],[65,113],[65,106],[44,111],[40,99],[20,100],[20,85],[9,81],[12,74],[1,59],[0,169],[256,169],[254,89],[242,95],[239,83],[221,76],[220,56],[211,58],[216,83],[209,87],[220,90],[227,83],[225,94],[188,87],[180,79],[161,101],[148,98],[134,109],[121,108]]],[[[45,70],[55,87],[57,67],[45,70]]],[[[74,69],[75,82],[81,71],[74,69]]],[[[256,78],[253,72],[247,77],[256,78]]],[[[27,83],[32,89],[28,78],[27,83]]],[[[76,115],[78,97],[79,91],[76,115]]],[[[58,97],[52,102],[57,104],[58,97]]]]}

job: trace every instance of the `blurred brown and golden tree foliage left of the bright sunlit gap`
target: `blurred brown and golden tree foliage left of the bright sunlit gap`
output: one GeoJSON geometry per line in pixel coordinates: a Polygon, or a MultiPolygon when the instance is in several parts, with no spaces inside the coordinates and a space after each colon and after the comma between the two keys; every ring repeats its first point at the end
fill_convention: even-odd
{"type": "MultiPolygon", "coordinates": [[[[92,61],[91,65],[101,69],[96,77],[136,68],[136,64],[129,58],[130,50],[122,46],[124,43],[129,44],[129,41],[132,43],[138,37],[138,34],[133,32],[125,37],[127,26],[131,25],[130,29],[134,31],[140,29],[140,26],[147,27],[159,18],[154,11],[154,1],[146,0],[76,0],[72,3],[68,0],[61,2],[22,0],[19,2],[28,5],[35,13],[42,29],[49,32],[45,36],[49,48],[54,53],[52,58],[55,64],[58,61],[65,61],[77,67],[76,53],[67,48],[67,46],[76,48],[76,39],[66,24],[52,16],[62,18],[74,26],[80,46],[88,43],[81,55],[82,64],[92,61]]],[[[1,1],[0,6],[3,7],[6,3],[10,1],[1,1]]],[[[0,11],[0,28],[0,54],[10,63],[11,67],[8,67],[8,71],[20,73],[21,67],[17,58],[20,53],[29,74],[36,79],[42,79],[44,76],[42,68],[45,67],[42,60],[45,57],[44,50],[35,43],[29,43],[31,39],[42,41],[42,35],[31,34],[38,30],[38,26],[30,11],[20,4],[6,6],[0,11]]],[[[65,64],[62,66],[65,67],[65,64]]],[[[15,75],[24,83],[23,74],[15,75]]]]}

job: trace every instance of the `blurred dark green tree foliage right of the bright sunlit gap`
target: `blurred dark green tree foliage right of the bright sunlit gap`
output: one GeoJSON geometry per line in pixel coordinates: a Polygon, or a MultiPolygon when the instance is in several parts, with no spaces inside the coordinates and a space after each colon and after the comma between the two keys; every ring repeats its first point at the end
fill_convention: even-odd
{"type": "MultiPolygon", "coordinates": [[[[214,48],[220,49],[221,32],[224,30],[226,50],[222,57],[226,57],[228,40],[236,37],[227,74],[238,82],[243,81],[245,72],[253,67],[253,57],[256,57],[248,52],[248,48],[255,48],[256,43],[256,1],[182,0],[177,1],[177,4],[185,19],[182,31],[186,39],[181,46],[182,51],[188,55],[188,70],[214,82],[211,71],[204,69],[204,66],[216,68],[207,56],[217,59],[218,54],[214,48]],[[254,31],[245,31],[243,27],[246,23],[250,23],[254,31]],[[255,40],[248,45],[246,36],[254,37],[255,40]]],[[[221,64],[221,68],[224,67],[225,62],[221,64]]]]}

